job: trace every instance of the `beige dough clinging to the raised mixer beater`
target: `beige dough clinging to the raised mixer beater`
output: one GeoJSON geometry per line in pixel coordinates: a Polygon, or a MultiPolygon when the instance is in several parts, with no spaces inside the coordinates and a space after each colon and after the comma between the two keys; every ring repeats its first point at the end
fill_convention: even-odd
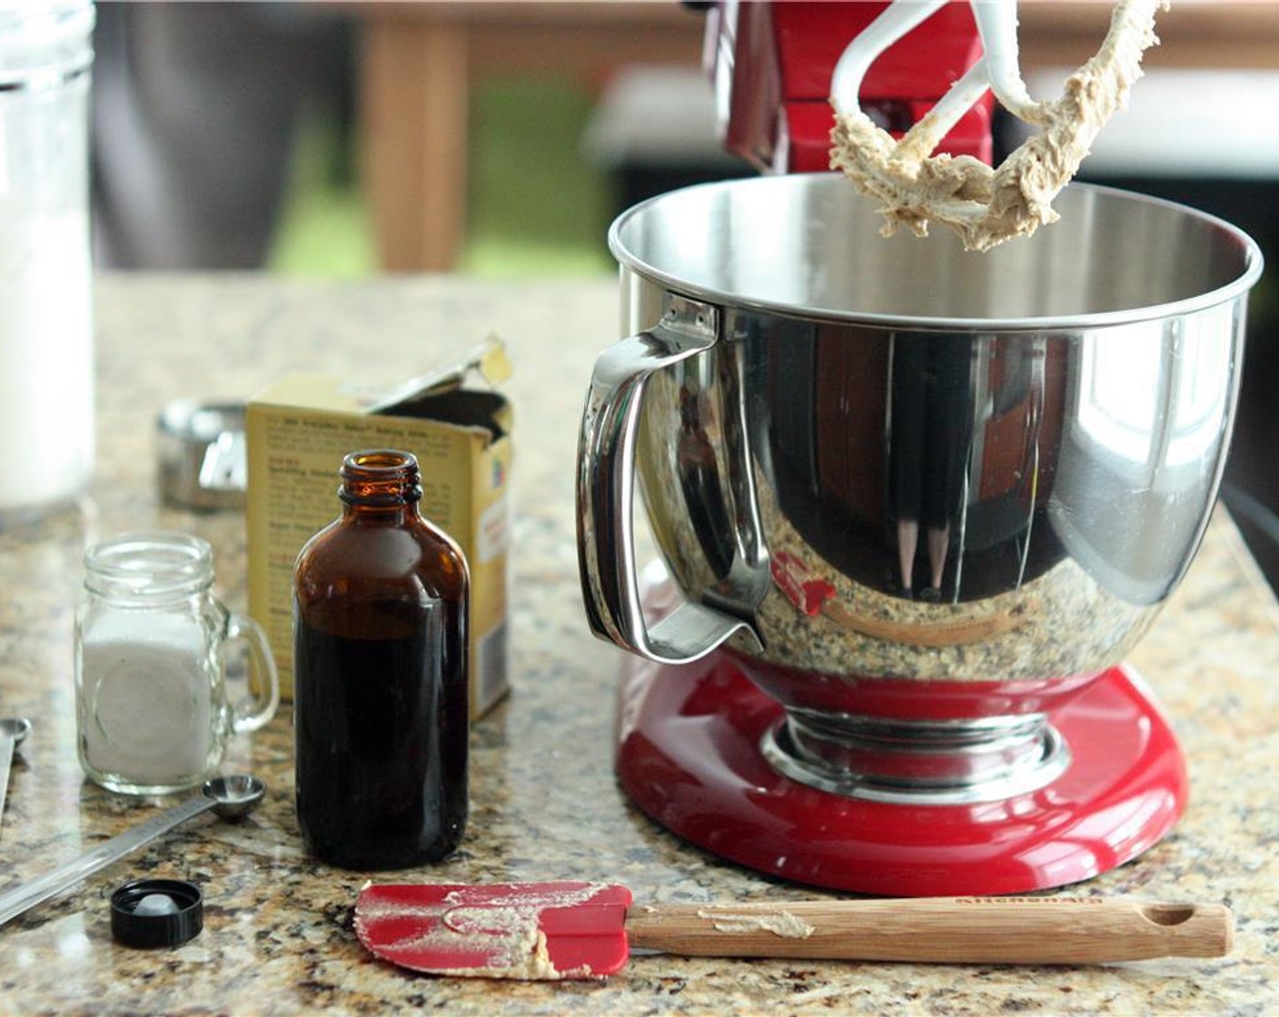
{"type": "Polygon", "coordinates": [[[1091,150],[1097,132],[1128,101],[1141,77],[1141,58],[1159,40],[1155,10],[1166,0],[1119,0],[1097,54],[1065,81],[1056,101],[1036,102],[1026,119],[1041,128],[998,169],[972,156],[929,154],[941,141],[923,116],[898,143],[859,110],[835,113],[831,169],[881,202],[881,233],[904,225],[927,235],[930,223],[949,226],[969,251],[987,251],[1053,223],[1053,198],[1091,150]]]}

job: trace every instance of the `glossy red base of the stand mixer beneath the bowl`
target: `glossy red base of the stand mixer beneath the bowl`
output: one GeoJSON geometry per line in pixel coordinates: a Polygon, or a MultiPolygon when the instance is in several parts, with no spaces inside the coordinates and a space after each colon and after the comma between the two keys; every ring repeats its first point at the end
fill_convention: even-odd
{"type": "Polygon", "coordinates": [[[618,777],[673,833],[797,883],[895,897],[1004,894],[1088,879],[1177,823],[1187,778],[1168,723],[1113,668],[1051,723],[1072,751],[1048,787],[999,802],[847,798],[778,774],[760,739],[780,706],[724,658],[624,665],[618,777]]]}

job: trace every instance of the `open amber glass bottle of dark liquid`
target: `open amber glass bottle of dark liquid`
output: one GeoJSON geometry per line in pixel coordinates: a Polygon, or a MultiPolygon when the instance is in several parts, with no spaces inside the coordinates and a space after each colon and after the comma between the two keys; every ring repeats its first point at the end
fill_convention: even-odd
{"type": "Polygon", "coordinates": [[[345,869],[436,861],[466,825],[469,579],[421,495],[409,453],[352,453],[294,568],[298,824],[345,869]]]}

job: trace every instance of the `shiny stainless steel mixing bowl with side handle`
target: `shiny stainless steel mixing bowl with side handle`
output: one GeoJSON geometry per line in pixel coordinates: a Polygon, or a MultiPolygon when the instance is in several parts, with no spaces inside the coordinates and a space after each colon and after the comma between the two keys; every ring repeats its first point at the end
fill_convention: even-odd
{"type": "Polygon", "coordinates": [[[629,338],[578,462],[592,628],[666,663],[726,643],[787,707],[770,759],[821,787],[865,788],[884,739],[998,741],[916,782],[982,797],[1059,771],[1045,711],[1129,651],[1207,524],[1261,255],[1152,198],[1056,207],[985,255],[879,235],[828,174],[618,219],[629,338]],[[682,595],[660,620],[636,476],[682,595]]]}

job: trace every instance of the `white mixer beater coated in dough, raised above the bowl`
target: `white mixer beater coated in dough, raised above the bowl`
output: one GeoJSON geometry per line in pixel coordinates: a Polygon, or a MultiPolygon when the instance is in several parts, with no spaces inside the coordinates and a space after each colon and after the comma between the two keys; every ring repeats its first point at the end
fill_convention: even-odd
{"type": "MultiPolygon", "coordinates": [[[[935,5],[916,6],[877,40],[871,26],[853,40],[831,82],[831,169],[843,170],[862,193],[881,202],[884,235],[904,225],[922,237],[931,223],[939,223],[958,233],[969,251],[1028,237],[1058,219],[1053,200],[1078,171],[1092,139],[1127,104],[1141,77],[1142,54],[1159,41],[1155,12],[1166,6],[1165,0],[1119,0],[1096,55],[1067,78],[1059,99],[1036,102],[1017,68],[1016,5],[984,8],[975,0],[985,56],[900,141],[861,111],[856,90],[871,60],[909,31],[902,24],[917,24],[935,5]],[[858,46],[861,52],[856,52],[858,46]],[[987,87],[1039,133],[995,169],[972,156],[931,155],[987,87]]],[[[885,14],[891,12],[890,6],[885,14]]]]}

